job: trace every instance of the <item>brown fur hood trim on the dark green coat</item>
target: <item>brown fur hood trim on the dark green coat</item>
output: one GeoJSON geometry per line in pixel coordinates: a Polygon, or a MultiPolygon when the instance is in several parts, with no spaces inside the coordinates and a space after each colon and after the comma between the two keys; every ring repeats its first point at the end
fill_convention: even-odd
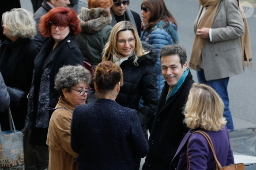
{"type": "Polygon", "coordinates": [[[86,34],[97,33],[112,21],[111,14],[100,7],[91,9],[82,7],[78,18],[82,32],[86,34]]]}

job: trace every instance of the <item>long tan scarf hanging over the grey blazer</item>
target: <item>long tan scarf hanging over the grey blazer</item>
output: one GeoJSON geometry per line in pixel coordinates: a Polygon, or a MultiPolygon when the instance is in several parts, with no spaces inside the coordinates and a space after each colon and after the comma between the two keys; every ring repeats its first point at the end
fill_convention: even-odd
{"type": "MultiPolygon", "coordinates": [[[[197,29],[202,29],[203,27],[211,28],[214,16],[216,14],[218,5],[221,0],[204,0],[202,2],[200,0],[198,1],[203,7],[206,8],[206,11],[203,14],[203,17],[201,18],[197,29]]],[[[189,61],[189,67],[194,70],[198,70],[198,71],[200,70],[200,65],[202,61],[201,51],[203,49],[203,45],[205,41],[206,39],[198,36],[196,31],[195,39],[192,46],[190,61],[189,61]]]]}

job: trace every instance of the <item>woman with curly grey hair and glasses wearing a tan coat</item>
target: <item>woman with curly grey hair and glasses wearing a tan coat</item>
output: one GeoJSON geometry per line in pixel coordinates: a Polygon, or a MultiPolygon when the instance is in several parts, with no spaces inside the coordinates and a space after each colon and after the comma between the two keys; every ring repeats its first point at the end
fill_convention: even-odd
{"type": "Polygon", "coordinates": [[[49,170],[77,170],[78,156],[70,143],[72,112],[77,105],[85,104],[91,73],[82,65],[66,65],[59,69],[55,78],[55,89],[60,99],[51,116],[47,141],[49,146],[49,170]]]}

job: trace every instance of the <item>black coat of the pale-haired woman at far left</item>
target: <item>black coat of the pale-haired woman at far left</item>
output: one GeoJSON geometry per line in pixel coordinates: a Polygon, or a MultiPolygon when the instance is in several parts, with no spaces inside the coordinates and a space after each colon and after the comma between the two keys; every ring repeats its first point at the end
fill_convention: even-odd
{"type": "MultiPolygon", "coordinates": [[[[0,72],[3,75],[6,86],[17,87],[26,94],[29,93],[34,68],[34,58],[39,52],[38,46],[30,38],[19,38],[15,42],[6,39],[0,49],[0,72]]],[[[11,113],[17,130],[24,127],[27,105],[22,108],[15,108],[11,105],[11,113]]],[[[7,118],[7,111],[1,117],[1,125],[4,125],[7,118]]]]}

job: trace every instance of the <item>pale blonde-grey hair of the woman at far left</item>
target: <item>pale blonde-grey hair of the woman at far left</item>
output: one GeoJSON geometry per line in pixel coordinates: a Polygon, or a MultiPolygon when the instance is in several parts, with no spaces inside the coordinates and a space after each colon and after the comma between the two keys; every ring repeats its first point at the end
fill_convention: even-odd
{"type": "Polygon", "coordinates": [[[23,8],[13,8],[2,16],[4,28],[11,37],[33,38],[37,34],[33,14],[23,8]]]}

